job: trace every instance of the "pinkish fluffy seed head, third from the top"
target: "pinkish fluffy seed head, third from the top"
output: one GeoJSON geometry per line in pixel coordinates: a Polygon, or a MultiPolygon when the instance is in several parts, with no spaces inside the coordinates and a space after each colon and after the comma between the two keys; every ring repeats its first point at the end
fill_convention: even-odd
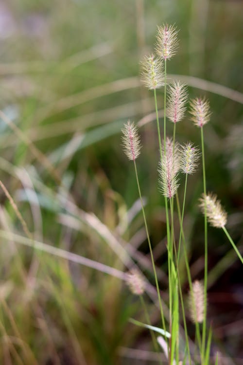
{"type": "Polygon", "coordinates": [[[174,81],[169,87],[169,98],[167,105],[167,116],[173,123],[183,119],[186,111],[187,90],[186,85],[180,81],[174,81]]]}

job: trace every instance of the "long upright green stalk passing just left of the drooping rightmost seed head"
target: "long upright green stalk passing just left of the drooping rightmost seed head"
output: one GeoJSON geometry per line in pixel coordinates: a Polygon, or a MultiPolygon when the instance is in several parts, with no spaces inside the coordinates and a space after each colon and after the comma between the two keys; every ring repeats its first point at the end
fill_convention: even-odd
{"type": "MultiPolygon", "coordinates": [[[[205,156],[204,156],[204,137],[203,127],[201,127],[201,142],[202,142],[202,160],[203,160],[203,192],[206,196],[206,172],[205,172],[205,156]]],[[[204,264],[204,321],[202,333],[202,351],[203,358],[205,356],[206,346],[206,325],[207,325],[207,289],[208,289],[208,225],[207,225],[207,207],[204,206],[204,239],[205,239],[205,264],[204,264]]]]}

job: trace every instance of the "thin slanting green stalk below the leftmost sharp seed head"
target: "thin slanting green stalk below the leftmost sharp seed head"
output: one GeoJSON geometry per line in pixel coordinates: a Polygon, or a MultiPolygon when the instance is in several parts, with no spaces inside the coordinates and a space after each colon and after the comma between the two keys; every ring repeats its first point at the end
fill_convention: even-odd
{"type": "Polygon", "coordinates": [[[161,302],[161,297],[160,297],[160,292],[159,292],[159,286],[158,286],[158,278],[157,278],[157,274],[156,274],[155,260],[154,260],[152,245],[151,245],[151,241],[150,241],[150,237],[149,237],[147,219],[146,219],[145,212],[144,212],[143,201],[142,201],[141,190],[140,190],[140,184],[139,184],[138,171],[137,171],[137,165],[136,165],[135,160],[134,160],[134,168],[135,168],[136,180],[137,180],[137,185],[138,185],[138,190],[139,190],[139,198],[140,198],[140,202],[141,202],[142,215],[143,215],[146,235],[147,235],[147,239],[148,239],[148,244],[149,244],[151,261],[152,261],[153,271],[154,271],[154,275],[155,275],[156,290],[157,290],[157,295],[158,295],[158,302],[159,302],[159,309],[160,309],[160,314],[161,314],[161,321],[162,321],[163,329],[166,330],[164,312],[163,312],[163,307],[162,307],[162,302],[161,302]]]}

